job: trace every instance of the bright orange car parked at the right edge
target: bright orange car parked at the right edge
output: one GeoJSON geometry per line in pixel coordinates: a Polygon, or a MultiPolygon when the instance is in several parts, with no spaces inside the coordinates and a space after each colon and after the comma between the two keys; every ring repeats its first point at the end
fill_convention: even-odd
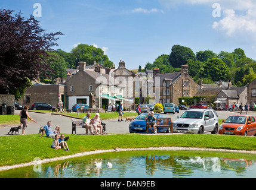
{"type": "Polygon", "coordinates": [[[256,136],[256,119],[252,115],[230,115],[222,121],[218,134],[256,136]]]}

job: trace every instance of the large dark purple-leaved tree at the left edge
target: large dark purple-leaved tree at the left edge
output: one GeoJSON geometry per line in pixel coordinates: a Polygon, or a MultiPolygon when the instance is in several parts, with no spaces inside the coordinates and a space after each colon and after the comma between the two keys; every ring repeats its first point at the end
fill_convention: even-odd
{"type": "Polygon", "coordinates": [[[30,81],[49,69],[47,50],[57,46],[55,36],[61,34],[45,33],[32,15],[24,19],[20,12],[0,9],[0,93],[20,99],[30,81]]]}

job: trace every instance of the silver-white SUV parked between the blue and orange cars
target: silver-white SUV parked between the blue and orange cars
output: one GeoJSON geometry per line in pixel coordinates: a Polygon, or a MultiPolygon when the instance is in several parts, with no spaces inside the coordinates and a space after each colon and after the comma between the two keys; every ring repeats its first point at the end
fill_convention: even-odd
{"type": "Polygon", "coordinates": [[[215,110],[189,109],[173,122],[174,132],[218,134],[218,115],[215,110]]]}

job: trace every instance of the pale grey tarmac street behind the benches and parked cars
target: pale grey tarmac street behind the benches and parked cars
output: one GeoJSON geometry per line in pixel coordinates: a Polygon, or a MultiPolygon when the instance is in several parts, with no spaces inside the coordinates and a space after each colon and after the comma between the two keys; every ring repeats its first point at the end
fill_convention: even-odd
{"type": "MultiPolygon", "coordinates": [[[[15,114],[18,114],[20,110],[15,110],[15,114]]],[[[180,110],[180,113],[167,114],[166,116],[172,118],[172,121],[177,119],[177,116],[183,114],[183,110],[180,110]]],[[[239,114],[239,112],[229,112],[229,111],[217,111],[219,119],[226,119],[229,115],[239,114]]],[[[61,115],[51,115],[51,113],[35,113],[29,112],[29,115],[39,124],[35,122],[29,122],[29,125],[26,129],[26,134],[38,134],[40,125],[44,126],[47,124],[47,121],[52,121],[52,129],[58,125],[60,126],[61,133],[71,134],[72,132],[72,119],[66,116],[61,115]]],[[[248,112],[248,115],[254,115],[255,112],[248,112]]],[[[78,119],[75,119],[78,120],[78,119]]],[[[111,134],[126,134],[129,133],[129,122],[118,122],[117,119],[103,119],[103,123],[106,124],[106,132],[111,134]]],[[[14,125],[15,126],[15,125],[14,125]]],[[[18,125],[17,125],[18,126],[18,125]]],[[[10,126],[0,127],[0,136],[8,135],[10,131],[10,126]]],[[[21,130],[20,130],[21,133],[21,130]]],[[[77,134],[85,134],[85,128],[76,129],[77,134]]],[[[17,134],[18,135],[18,134],[17,134]]]]}

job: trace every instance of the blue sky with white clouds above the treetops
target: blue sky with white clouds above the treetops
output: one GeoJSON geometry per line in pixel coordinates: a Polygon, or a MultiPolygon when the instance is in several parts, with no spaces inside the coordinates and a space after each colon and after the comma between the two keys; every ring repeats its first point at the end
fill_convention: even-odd
{"type": "Polygon", "coordinates": [[[116,66],[122,59],[128,69],[144,67],[159,55],[169,55],[174,45],[194,53],[240,47],[256,59],[255,0],[10,0],[0,8],[28,18],[36,3],[42,7],[37,18],[42,29],[64,33],[55,49],[70,52],[79,43],[94,45],[116,66]]]}

